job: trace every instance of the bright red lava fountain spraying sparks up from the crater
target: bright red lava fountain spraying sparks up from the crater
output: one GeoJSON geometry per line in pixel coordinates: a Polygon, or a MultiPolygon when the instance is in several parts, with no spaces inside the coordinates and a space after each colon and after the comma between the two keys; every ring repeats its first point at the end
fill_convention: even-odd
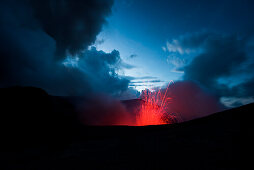
{"type": "Polygon", "coordinates": [[[171,100],[170,97],[167,97],[168,87],[164,94],[162,94],[161,90],[153,92],[144,90],[142,92],[141,98],[144,100],[144,103],[141,105],[140,111],[136,116],[137,126],[170,123],[170,115],[166,113],[167,103],[171,100]]]}

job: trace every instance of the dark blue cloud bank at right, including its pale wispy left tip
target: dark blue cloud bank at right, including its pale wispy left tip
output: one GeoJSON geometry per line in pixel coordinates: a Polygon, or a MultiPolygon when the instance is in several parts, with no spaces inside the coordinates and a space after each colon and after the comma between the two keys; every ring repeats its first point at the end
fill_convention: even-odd
{"type": "Polygon", "coordinates": [[[254,97],[253,53],[247,51],[251,37],[193,33],[168,43],[167,50],[194,55],[181,68],[184,80],[195,81],[218,97],[254,97]],[[223,82],[226,79],[231,81],[223,82]]]}

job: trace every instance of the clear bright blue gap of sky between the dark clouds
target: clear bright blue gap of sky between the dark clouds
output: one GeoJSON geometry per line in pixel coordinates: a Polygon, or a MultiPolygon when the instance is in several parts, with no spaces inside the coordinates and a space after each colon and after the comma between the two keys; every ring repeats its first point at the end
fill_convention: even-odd
{"type": "MultiPolygon", "coordinates": [[[[199,54],[195,49],[180,51],[184,47],[178,44],[179,39],[197,38],[199,34],[252,35],[253,5],[252,1],[231,0],[118,0],[98,36],[103,43],[97,46],[108,52],[119,50],[124,61],[135,66],[125,69],[126,76],[179,80],[183,71],[177,71],[176,67],[184,66],[199,54]]],[[[145,82],[137,88],[161,85],[159,81],[145,82]]]]}

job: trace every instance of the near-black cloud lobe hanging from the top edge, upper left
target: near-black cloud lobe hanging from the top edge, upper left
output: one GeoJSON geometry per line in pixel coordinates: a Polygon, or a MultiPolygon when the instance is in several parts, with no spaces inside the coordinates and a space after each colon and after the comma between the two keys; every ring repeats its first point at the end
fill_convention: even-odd
{"type": "Polygon", "coordinates": [[[95,42],[113,0],[29,1],[43,30],[56,41],[57,55],[76,54],[95,42]]]}

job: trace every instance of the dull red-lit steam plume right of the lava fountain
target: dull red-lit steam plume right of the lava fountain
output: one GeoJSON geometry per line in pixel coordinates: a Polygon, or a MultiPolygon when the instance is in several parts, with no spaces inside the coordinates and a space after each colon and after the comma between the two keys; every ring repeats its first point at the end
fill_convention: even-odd
{"type": "MultiPolygon", "coordinates": [[[[162,89],[165,92],[166,89],[162,89]]],[[[166,113],[176,116],[178,122],[188,121],[223,110],[218,98],[191,81],[179,81],[169,85],[166,113]]]]}

